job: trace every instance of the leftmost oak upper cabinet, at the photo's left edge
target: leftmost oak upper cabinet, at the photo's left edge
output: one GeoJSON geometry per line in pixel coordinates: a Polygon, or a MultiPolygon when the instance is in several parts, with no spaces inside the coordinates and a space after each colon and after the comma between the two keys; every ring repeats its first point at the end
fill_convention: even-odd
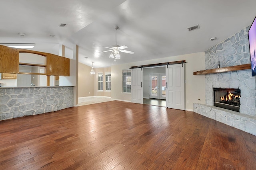
{"type": "Polygon", "coordinates": [[[0,45],[0,72],[17,73],[19,65],[18,49],[0,45]]]}

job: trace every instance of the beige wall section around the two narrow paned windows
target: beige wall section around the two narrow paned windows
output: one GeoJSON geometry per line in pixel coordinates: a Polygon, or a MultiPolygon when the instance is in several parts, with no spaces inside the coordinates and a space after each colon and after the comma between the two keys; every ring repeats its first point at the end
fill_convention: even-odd
{"type": "MultiPolygon", "coordinates": [[[[105,88],[105,73],[106,72],[111,72],[111,67],[103,67],[103,68],[94,68],[95,76],[94,76],[94,96],[106,96],[106,97],[111,97],[111,92],[106,92],[106,88],[105,88]],[[103,73],[103,92],[102,91],[98,91],[98,72],[102,72],[103,73]]],[[[112,76],[112,75],[111,75],[112,76]]],[[[112,85],[112,82],[111,82],[112,85]]],[[[111,86],[111,90],[112,90],[112,86],[111,86]]]]}

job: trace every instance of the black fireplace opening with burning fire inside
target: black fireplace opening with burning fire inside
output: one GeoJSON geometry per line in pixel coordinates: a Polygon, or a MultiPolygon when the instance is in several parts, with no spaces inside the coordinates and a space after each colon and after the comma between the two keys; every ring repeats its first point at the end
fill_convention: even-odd
{"type": "Polygon", "coordinates": [[[213,88],[214,106],[239,112],[240,93],[236,88],[213,88]]]}

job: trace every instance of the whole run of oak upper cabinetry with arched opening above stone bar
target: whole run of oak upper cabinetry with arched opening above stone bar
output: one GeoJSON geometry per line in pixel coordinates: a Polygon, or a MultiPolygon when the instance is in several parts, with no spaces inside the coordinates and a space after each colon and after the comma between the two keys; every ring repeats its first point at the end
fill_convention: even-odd
{"type": "Polygon", "coordinates": [[[0,72],[70,76],[70,59],[50,53],[0,45],[0,72]],[[31,67],[30,72],[26,71],[28,67],[31,67]]]}

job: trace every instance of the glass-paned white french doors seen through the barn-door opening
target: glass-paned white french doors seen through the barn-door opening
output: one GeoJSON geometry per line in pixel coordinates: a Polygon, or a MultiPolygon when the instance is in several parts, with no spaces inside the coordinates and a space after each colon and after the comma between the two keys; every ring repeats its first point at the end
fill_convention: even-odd
{"type": "Polygon", "coordinates": [[[166,76],[165,73],[149,74],[150,92],[149,97],[154,99],[166,99],[166,76]]]}

